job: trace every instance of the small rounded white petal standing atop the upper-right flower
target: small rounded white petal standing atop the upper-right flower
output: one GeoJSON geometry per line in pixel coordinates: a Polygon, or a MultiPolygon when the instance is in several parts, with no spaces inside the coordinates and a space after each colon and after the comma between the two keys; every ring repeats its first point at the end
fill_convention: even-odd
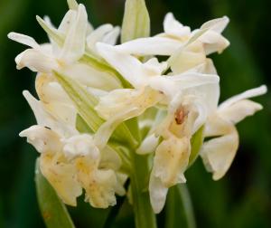
{"type": "Polygon", "coordinates": [[[168,13],[164,17],[164,33],[182,38],[182,36],[190,35],[191,29],[179,23],[172,13],[168,13]]]}

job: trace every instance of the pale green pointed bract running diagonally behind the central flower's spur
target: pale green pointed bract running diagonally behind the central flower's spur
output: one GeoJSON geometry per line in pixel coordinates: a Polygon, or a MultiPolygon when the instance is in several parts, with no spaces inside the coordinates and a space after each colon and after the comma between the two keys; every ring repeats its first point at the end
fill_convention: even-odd
{"type": "MultiPolygon", "coordinates": [[[[105,122],[104,119],[101,119],[98,116],[98,113],[95,110],[95,106],[98,104],[96,97],[92,96],[85,88],[79,85],[77,81],[62,75],[57,71],[54,71],[54,75],[69,95],[70,100],[73,101],[79,111],[80,117],[86,121],[93,132],[96,132],[105,122]]],[[[136,147],[137,145],[137,141],[124,123],[118,125],[112,138],[124,144],[128,143],[131,147],[136,147]]]]}

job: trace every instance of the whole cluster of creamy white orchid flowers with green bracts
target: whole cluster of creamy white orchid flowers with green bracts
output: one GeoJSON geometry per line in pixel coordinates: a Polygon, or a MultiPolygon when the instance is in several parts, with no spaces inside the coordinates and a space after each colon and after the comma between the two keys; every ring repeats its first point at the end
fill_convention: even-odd
{"type": "Polygon", "coordinates": [[[261,86],[218,105],[220,77],[207,56],[229,46],[221,34],[228,17],[192,31],[169,13],[164,33],[134,38],[124,22],[117,44],[119,27],[94,29],[85,6],[68,3],[57,28],[37,17],[50,43],[8,35],[30,47],[16,57],[17,68],[37,72],[39,100],[23,91],[37,125],[20,136],[41,153],[42,175],[62,201],[76,205],[84,189],[94,207],[116,204],[127,178],[142,168],[133,166],[135,154],[148,160],[155,213],[168,189],[186,182],[198,155],[213,179],[224,176],[238,150],[235,124],[262,109],[248,99],[266,93],[261,86]]]}

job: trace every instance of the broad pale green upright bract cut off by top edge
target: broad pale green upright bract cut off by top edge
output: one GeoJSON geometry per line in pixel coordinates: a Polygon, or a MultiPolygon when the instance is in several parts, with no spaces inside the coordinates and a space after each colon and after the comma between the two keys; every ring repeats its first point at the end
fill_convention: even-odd
{"type": "Polygon", "coordinates": [[[150,16],[145,0],[126,0],[121,43],[150,36],[150,16]]]}

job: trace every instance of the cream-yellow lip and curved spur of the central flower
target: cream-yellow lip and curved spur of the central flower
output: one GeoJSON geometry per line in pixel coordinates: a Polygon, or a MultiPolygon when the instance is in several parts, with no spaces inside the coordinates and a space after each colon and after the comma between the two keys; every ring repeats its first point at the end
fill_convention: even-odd
{"type": "Polygon", "coordinates": [[[107,119],[95,134],[95,144],[102,149],[117,126],[127,119],[132,119],[144,113],[145,109],[153,107],[163,99],[163,94],[150,88],[145,90],[114,90],[108,96],[101,98],[96,109],[100,116],[107,119]],[[130,96],[127,96],[129,95],[130,96]],[[107,98],[108,99],[107,99],[107,98]]]}

